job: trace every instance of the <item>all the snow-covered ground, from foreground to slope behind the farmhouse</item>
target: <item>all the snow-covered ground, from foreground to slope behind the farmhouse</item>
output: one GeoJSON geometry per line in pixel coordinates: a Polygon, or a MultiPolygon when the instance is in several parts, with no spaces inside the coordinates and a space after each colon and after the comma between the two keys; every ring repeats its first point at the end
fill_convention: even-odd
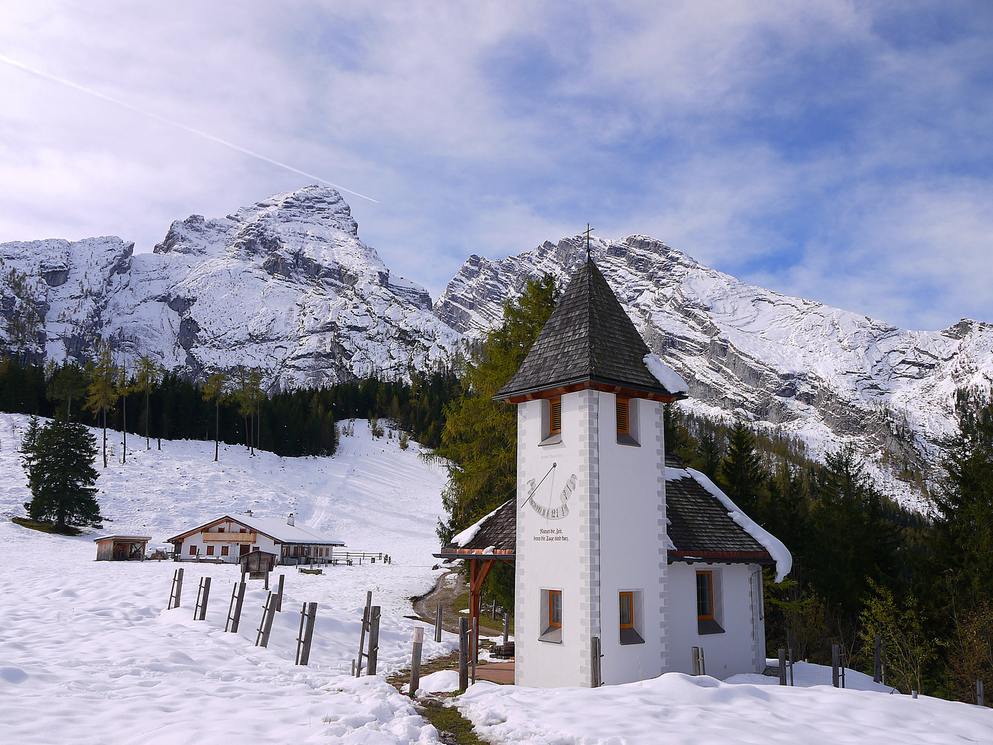
{"type": "MultiPolygon", "coordinates": [[[[25,417],[0,414],[0,513],[23,514],[28,499],[17,446],[25,417]]],[[[138,438],[129,444],[143,447],[138,438]]],[[[115,449],[119,456],[119,446],[115,449]]],[[[419,743],[438,732],[381,676],[348,672],[365,591],[383,607],[379,670],[409,664],[410,595],[434,581],[430,554],[441,511],[440,470],[373,440],[364,422],[335,458],[250,457],[213,444],[163,442],[136,449],[99,481],[114,532],[162,543],[218,513],[251,508],[334,532],[352,549],[385,551],[392,564],[287,567],[283,612],[268,649],[254,646],[265,593],[251,582],[239,633],[224,633],[236,570],[184,563],[182,607],[166,611],[176,564],[95,562],[90,535],[48,535],[0,522],[0,745],[99,743],[419,743]],[[153,445],[154,448],[154,445],[153,445]],[[200,577],[213,578],[206,621],[193,620],[200,577]],[[317,602],[311,664],[294,665],[300,606],[317,602]]],[[[454,635],[431,658],[453,650],[454,635]]],[[[993,711],[889,694],[849,672],[847,690],[830,671],[798,664],[797,687],[738,675],[725,682],[671,673],[596,690],[541,690],[480,682],[459,700],[494,743],[914,743],[993,742],[993,711]]],[[[449,688],[452,673],[422,678],[449,688]]]]}

